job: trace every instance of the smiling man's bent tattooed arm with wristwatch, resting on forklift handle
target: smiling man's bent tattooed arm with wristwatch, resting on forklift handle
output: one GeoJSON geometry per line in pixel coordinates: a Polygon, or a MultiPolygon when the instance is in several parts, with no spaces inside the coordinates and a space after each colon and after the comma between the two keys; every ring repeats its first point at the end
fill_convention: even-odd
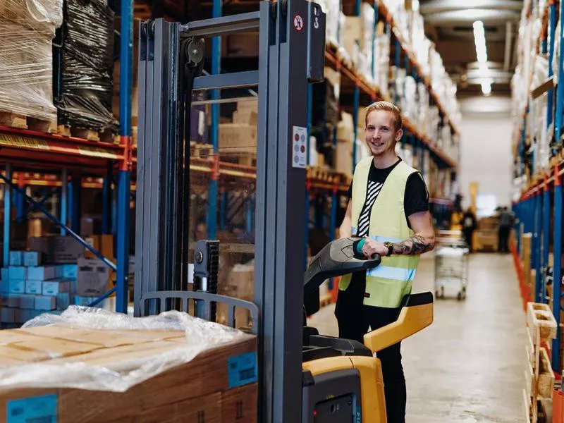
{"type": "MultiPolygon", "coordinates": [[[[407,219],[415,232],[407,240],[393,244],[393,255],[421,255],[433,250],[435,247],[435,230],[430,212],[418,212],[411,214],[407,219]]],[[[366,257],[372,257],[374,253],[386,256],[388,247],[384,243],[367,238],[362,246],[362,252],[366,257]]]]}

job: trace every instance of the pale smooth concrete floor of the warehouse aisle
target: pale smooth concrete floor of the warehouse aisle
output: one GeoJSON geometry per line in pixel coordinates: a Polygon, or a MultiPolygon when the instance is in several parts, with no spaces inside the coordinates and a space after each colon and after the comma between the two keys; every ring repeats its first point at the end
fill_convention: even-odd
{"type": "MultiPolygon", "coordinates": [[[[414,292],[433,290],[425,255],[414,292]]],[[[310,324],[337,335],[334,306],[310,324]]],[[[435,302],[434,324],[404,341],[407,423],[522,421],[525,314],[510,255],[470,257],[465,302],[435,302]]]]}

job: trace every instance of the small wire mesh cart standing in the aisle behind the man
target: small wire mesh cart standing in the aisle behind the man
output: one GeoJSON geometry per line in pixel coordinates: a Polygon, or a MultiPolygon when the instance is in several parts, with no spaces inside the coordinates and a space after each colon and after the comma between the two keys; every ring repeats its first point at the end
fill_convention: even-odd
{"type": "Polygon", "coordinates": [[[456,298],[466,298],[470,249],[460,239],[443,238],[435,252],[435,296],[445,298],[445,288],[456,290],[456,298]]]}

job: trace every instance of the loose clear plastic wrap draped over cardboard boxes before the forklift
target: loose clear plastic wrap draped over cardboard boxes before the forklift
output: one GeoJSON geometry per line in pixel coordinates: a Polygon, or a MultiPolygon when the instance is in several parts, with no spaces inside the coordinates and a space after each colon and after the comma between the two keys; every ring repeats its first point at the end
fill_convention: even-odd
{"type": "MultiPolygon", "coordinates": [[[[116,360],[106,367],[73,360],[56,364],[56,360],[25,362],[22,365],[1,367],[0,389],[9,388],[79,388],[95,391],[123,392],[167,369],[190,362],[205,350],[216,348],[233,341],[249,337],[246,333],[191,317],[188,314],[171,311],[152,317],[130,317],[125,314],[108,312],[104,309],[71,306],[61,315],[42,314],[28,321],[23,329],[38,326],[70,326],[80,329],[110,331],[181,330],[185,343],[167,347],[166,350],[146,348],[139,344],[142,355],[130,356],[128,360],[116,360]]],[[[128,333],[129,336],[135,336],[128,333]]],[[[53,357],[56,358],[56,357],[53,357]]],[[[73,357],[74,358],[74,357],[73,357]]]]}

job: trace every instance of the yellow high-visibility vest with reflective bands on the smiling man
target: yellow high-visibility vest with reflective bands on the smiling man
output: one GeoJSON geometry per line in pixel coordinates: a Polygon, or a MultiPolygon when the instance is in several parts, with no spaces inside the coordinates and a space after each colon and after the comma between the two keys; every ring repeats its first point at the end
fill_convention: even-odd
{"type": "MultiPolygon", "coordinates": [[[[352,231],[357,233],[358,219],[366,200],[368,173],[372,157],[366,157],[357,164],[353,178],[352,231]]],[[[399,243],[413,235],[407,226],[403,199],[407,178],[417,172],[400,161],[386,178],[370,212],[368,236],[381,243],[399,243]]],[[[376,307],[399,307],[404,295],[411,293],[413,278],[419,264],[419,256],[393,255],[382,257],[381,264],[367,270],[364,305],[376,307]]],[[[346,290],[351,275],[345,275],[339,283],[340,290],[346,290]]]]}

